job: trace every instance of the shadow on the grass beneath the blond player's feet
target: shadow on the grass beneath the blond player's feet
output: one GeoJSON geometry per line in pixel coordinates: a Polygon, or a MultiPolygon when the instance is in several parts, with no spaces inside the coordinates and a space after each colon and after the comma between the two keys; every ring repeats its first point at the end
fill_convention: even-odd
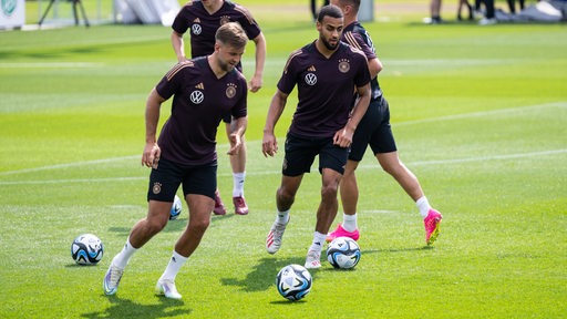
{"type": "Polygon", "coordinates": [[[121,299],[116,296],[109,296],[111,306],[102,311],[89,312],[81,318],[167,318],[176,316],[188,316],[193,310],[186,309],[182,300],[159,298],[158,305],[141,305],[132,300],[121,299]]]}

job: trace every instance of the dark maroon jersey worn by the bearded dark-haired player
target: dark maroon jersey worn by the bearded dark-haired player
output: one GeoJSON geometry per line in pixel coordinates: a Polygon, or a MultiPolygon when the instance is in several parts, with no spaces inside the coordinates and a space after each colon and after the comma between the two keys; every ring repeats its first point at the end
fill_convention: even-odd
{"type": "Polygon", "coordinates": [[[369,82],[364,53],[343,42],[329,59],[315,42],[292,52],[278,82],[278,89],[286,94],[298,86],[299,102],[289,132],[333,136],[349,120],[354,89],[369,82]]]}

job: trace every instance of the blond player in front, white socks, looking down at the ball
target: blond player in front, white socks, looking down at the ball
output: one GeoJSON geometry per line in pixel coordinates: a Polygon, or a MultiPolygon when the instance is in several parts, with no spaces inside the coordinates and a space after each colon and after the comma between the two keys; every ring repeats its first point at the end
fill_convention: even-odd
{"type": "Polygon", "coordinates": [[[189,207],[187,228],[175,244],[173,256],[157,280],[156,292],[181,299],[175,277],[195,251],[209,223],[217,187],[216,134],[223,116],[235,119],[229,136],[229,154],[243,146],[247,126],[247,84],[235,70],[248,38],[238,23],[217,30],[213,54],[179,62],[152,90],[146,102],[146,144],[142,165],[152,167],[147,191],[147,216],[137,222],[124,248],[113,259],[104,276],[104,294],[114,295],[132,255],[159,233],[169,218],[177,188],[189,207]],[[172,115],[156,128],[162,103],[173,96],[172,115]]]}

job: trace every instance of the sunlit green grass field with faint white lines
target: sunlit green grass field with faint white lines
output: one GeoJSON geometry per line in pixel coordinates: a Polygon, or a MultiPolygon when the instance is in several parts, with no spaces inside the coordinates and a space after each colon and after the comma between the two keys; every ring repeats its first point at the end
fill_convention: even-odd
{"type": "MultiPolygon", "coordinates": [[[[380,79],[400,156],[444,215],[433,247],[424,247],[415,205],[369,152],[359,169],[360,264],[337,271],[324,263],[301,301],[278,295],[278,270],[305,261],[320,176],[306,176],[284,246],[268,255],[282,152],[265,158],[261,132],[287,55],[317,31],[302,1],[240,1],[268,41],[265,88],[248,99],[250,214],[212,217],[177,276],[184,298],[173,301],[153,289],[186,225],[184,204],[109,298],[104,272],[146,214],[143,114],[175,62],[171,31],[0,32],[0,318],[566,318],[567,29],[423,25],[426,1],[378,2],[365,25],[385,66],[380,79]],[[71,259],[82,233],[105,245],[97,266],[71,259]]],[[[252,54],[249,47],[245,71],[252,54]]],[[[277,126],[280,144],[293,109],[291,99],[277,126]]],[[[218,183],[229,202],[220,128],[218,183]]]]}

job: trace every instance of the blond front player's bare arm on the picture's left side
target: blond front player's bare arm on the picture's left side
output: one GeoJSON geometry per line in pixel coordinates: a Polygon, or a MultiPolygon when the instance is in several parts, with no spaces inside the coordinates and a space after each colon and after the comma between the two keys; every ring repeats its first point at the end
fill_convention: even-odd
{"type": "Polygon", "coordinates": [[[147,167],[157,167],[157,162],[162,154],[162,150],[157,145],[156,132],[157,123],[159,122],[159,109],[164,101],[165,99],[157,93],[155,88],[152,89],[146,100],[146,145],[142,154],[142,165],[147,167]]]}

